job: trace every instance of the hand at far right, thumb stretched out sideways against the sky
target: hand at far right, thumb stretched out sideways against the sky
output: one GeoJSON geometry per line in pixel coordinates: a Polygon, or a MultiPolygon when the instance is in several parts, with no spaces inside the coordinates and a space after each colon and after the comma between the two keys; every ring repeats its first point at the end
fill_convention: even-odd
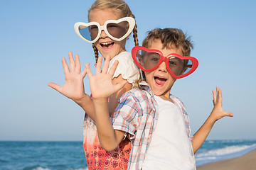
{"type": "Polygon", "coordinates": [[[217,121],[225,116],[233,117],[233,113],[225,112],[222,108],[222,93],[220,88],[216,87],[216,92],[213,91],[213,111],[210,113],[210,119],[217,121]],[[217,94],[216,94],[217,92],[217,94]]]}

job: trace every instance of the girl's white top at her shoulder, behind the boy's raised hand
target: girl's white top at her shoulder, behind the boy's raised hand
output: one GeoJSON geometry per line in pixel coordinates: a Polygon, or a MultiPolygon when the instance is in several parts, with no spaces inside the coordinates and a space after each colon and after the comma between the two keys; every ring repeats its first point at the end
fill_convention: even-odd
{"type": "Polygon", "coordinates": [[[118,77],[119,74],[122,75],[123,79],[127,79],[130,84],[133,84],[134,81],[139,79],[139,68],[134,63],[130,52],[121,52],[119,55],[112,58],[112,60],[110,60],[110,67],[107,72],[110,71],[110,68],[114,64],[115,60],[118,60],[119,64],[114,72],[113,79],[114,77],[118,77]]]}

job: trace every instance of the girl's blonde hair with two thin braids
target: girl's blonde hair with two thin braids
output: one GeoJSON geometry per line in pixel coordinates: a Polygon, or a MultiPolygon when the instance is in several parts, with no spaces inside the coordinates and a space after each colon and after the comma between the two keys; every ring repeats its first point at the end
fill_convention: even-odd
{"type": "MultiPolygon", "coordinates": [[[[124,17],[132,17],[135,19],[135,16],[132,14],[132,11],[130,10],[129,6],[125,3],[123,0],[97,0],[95,3],[92,4],[88,11],[88,18],[90,15],[90,11],[94,9],[110,9],[110,10],[115,10],[118,11],[121,18],[124,17]]],[[[133,29],[133,38],[134,38],[134,43],[135,46],[139,45],[139,41],[137,38],[137,25],[135,24],[134,29],[133,29]]],[[[94,44],[92,44],[92,48],[95,52],[95,59],[97,62],[97,59],[99,57],[99,52],[97,48],[95,47],[94,44]]]]}

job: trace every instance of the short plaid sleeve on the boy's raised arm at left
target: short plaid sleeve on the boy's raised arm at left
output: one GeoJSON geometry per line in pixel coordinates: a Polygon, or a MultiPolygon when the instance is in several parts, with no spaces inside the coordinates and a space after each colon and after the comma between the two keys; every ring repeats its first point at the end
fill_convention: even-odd
{"type": "Polygon", "coordinates": [[[137,110],[138,106],[134,97],[129,93],[125,93],[121,98],[119,98],[117,108],[111,115],[114,130],[127,132],[129,140],[133,140],[135,137],[137,127],[137,110]]]}

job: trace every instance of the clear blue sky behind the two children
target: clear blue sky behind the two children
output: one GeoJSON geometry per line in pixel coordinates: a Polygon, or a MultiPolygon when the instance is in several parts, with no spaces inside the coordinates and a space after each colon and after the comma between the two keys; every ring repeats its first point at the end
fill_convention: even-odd
{"type": "MultiPolygon", "coordinates": [[[[75,34],[76,22],[87,22],[92,0],[1,1],[0,140],[82,140],[84,113],[47,84],[63,85],[61,57],[80,55],[82,67],[94,64],[91,44],[75,34]]],[[[233,118],[218,120],[208,136],[255,139],[255,1],[133,1],[139,44],[146,31],[181,28],[192,36],[199,66],[176,81],[171,93],[181,98],[192,133],[213,108],[211,90],[223,90],[223,108],[233,118]]],[[[130,51],[132,37],[127,42],[130,51]]],[[[85,77],[85,91],[90,87],[85,77]]]]}

